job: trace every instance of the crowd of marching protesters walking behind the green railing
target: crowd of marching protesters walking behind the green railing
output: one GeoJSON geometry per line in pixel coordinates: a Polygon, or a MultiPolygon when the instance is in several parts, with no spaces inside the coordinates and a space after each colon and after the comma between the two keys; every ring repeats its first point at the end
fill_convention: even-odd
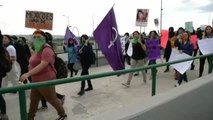
{"type": "MultiPolygon", "coordinates": [[[[136,68],[145,66],[146,64],[152,65],[157,64],[156,59],[147,59],[147,40],[158,40],[159,48],[164,49],[164,58],[168,62],[172,53],[172,48],[178,49],[180,53],[185,53],[190,56],[196,56],[199,48],[195,48],[192,41],[191,35],[197,35],[198,40],[205,38],[213,38],[213,28],[206,26],[204,30],[197,28],[193,32],[185,31],[184,28],[180,27],[177,31],[173,27],[169,28],[168,42],[166,48],[160,46],[161,36],[155,31],[150,31],[148,35],[145,33],[141,34],[139,31],[134,31],[131,35],[125,33],[125,48],[124,48],[124,59],[125,62],[130,65],[130,68],[136,68]],[[129,55],[128,48],[132,47],[132,54],[129,55]],[[148,63],[147,63],[148,62],[148,63]]],[[[56,78],[56,69],[54,68],[55,53],[53,47],[53,37],[49,32],[41,30],[35,30],[32,34],[32,43],[27,44],[25,37],[17,37],[11,35],[1,34],[0,32],[0,87],[7,87],[8,81],[11,81],[12,85],[27,84],[34,82],[42,82],[54,80],[56,78]],[[47,47],[46,47],[47,46],[47,47]],[[48,74],[48,75],[47,75],[48,74]]],[[[89,75],[89,69],[94,63],[92,45],[89,42],[89,37],[83,34],[80,37],[80,45],[74,44],[75,39],[69,38],[65,51],[68,54],[67,68],[70,71],[69,77],[74,77],[78,74],[78,70],[74,68],[75,63],[79,60],[82,70],[81,75],[89,75]]],[[[199,55],[202,53],[199,51],[199,55]]],[[[212,62],[211,57],[201,58],[199,64],[199,77],[203,75],[205,60],[212,62]]],[[[194,63],[191,64],[191,70],[194,70],[194,63]]],[[[169,72],[170,67],[166,66],[164,72],[169,72]]],[[[156,72],[157,69],[155,70],[156,72]]],[[[141,71],[143,76],[143,82],[146,83],[147,70],[141,71]]],[[[122,83],[125,87],[129,88],[133,76],[138,73],[130,73],[126,78],[126,82],[122,83]]],[[[182,81],[187,80],[186,72],[180,74],[175,70],[175,78],[177,84],[175,87],[181,85],[182,81]]],[[[86,91],[93,90],[91,80],[86,80],[88,87],[85,89],[85,81],[81,81],[79,96],[85,94],[86,91]]],[[[34,120],[36,112],[38,110],[47,109],[47,103],[52,105],[59,118],[57,120],[64,120],[67,118],[67,114],[64,110],[63,103],[65,95],[56,92],[55,86],[44,87],[44,88],[33,88],[30,94],[30,106],[28,112],[28,120],[34,120]],[[39,102],[41,101],[42,107],[38,108],[39,102]]],[[[8,120],[6,113],[6,101],[2,94],[0,94],[0,120],[8,120]]]]}

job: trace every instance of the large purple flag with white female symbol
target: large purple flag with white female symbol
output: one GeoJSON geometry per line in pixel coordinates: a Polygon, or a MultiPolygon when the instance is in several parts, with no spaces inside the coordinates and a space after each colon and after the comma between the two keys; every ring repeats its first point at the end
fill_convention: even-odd
{"type": "Polygon", "coordinates": [[[124,58],[113,7],[94,31],[94,38],[112,69],[124,69],[124,58]]]}

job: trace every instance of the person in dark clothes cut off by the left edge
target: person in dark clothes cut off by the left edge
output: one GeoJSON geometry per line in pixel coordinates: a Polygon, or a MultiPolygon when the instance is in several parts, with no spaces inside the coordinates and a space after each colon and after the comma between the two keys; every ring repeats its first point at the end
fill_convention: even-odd
{"type": "MultiPolygon", "coordinates": [[[[12,62],[10,61],[7,50],[3,47],[2,39],[3,36],[0,31],[0,88],[3,77],[5,77],[6,73],[12,68],[12,62]]],[[[8,115],[6,114],[6,103],[2,94],[0,94],[0,120],[8,120],[8,115]]]]}

